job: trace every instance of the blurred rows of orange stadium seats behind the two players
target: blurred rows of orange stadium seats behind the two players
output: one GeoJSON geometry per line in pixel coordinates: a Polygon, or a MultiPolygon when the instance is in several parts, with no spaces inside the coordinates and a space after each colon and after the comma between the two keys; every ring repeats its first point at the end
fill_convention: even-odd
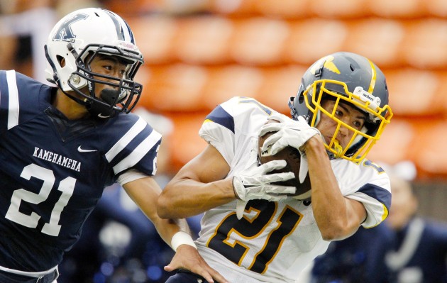
{"type": "MultiPolygon", "coordinates": [[[[128,21],[145,56],[139,106],[174,126],[165,145],[168,175],[204,148],[197,133],[222,101],[252,96],[288,114],[287,99],[319,57],[341,50],[369,57],[387,77],[394,111],[369,159],[414,162],[419,214],[447,221],[447,1],[1,0],[2,16],[21,12],[13,3],[49,6],[56,18],[102,6],[128,21]]],[[[32,35],[16,37],[18,52],[6,57],[11,46],[0,34],[0,69],[33,77],[32,35]]]]}

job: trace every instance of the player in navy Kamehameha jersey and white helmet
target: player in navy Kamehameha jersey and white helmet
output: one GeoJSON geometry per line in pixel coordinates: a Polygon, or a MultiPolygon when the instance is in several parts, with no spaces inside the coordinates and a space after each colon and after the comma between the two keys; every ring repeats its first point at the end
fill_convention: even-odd
{"type": "Polygon", "coordinates": [[[177,251],[172,268],[226,282],[197,252],[184,220],[156,212],[161,135],[129,113],[143,55],[104,9],[62,18],[45,45],[50,82],[0,71],[0,282],[55,282],[104,187],[118,182],[177,251]]]}

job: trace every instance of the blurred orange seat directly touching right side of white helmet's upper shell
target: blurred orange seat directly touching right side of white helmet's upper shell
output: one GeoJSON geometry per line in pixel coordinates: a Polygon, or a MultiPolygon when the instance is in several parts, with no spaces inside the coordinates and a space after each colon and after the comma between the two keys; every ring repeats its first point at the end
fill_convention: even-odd
{"type": "Polygon", "coordinates": [[[146,65],[169,63],[176,60],[172,45],[178,32],[177,21],[165,16],[142,16],[128,20],[136,43],[144,55],[146,65]]]}

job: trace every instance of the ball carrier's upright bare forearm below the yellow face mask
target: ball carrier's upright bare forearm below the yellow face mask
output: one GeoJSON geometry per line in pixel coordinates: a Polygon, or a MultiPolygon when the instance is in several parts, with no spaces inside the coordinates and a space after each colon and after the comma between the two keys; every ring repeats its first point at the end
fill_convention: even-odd
{"type": "Polygon", "coordinates": [[[324,145],[311,139],[306,146],[312,187],[312,209],[324,240],[338,240],[346,233],[346,201],[341,194],[324,145]]]}

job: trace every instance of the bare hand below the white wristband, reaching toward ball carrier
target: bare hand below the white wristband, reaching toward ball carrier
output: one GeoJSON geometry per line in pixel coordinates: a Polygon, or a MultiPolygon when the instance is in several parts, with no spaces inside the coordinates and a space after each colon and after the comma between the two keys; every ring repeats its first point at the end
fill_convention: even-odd
{"type": "Polygon", "coordinates": [[[165,266],[165,271],[167,272],[177,269],[189,270],[190,272],[199,274],[209,283],[214,282],[214,280],[219,283],[228,283],[219,272],[212,269],[205,262],[202,256],[199,255],[197,249],[191,245],[180,245],[177,248],[177,253],[172,257],[170,264],[165,266]]]}

